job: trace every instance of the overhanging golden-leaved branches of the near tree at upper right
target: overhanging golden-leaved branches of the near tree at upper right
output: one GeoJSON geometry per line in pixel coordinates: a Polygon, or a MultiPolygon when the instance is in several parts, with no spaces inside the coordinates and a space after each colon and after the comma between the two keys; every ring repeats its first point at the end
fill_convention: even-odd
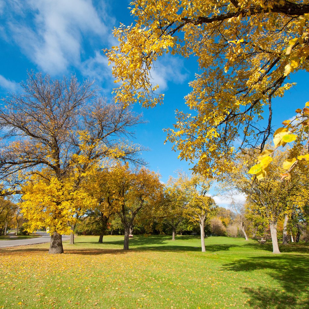
{"type": "MultiPolygon", "coordinates": [[[[151,78],[156,60],[166,53],[193,56],[198,70],[185,97],[192,111],[177,111],[174,128],[167,129],[180,158],[202,175],[221,176],[238,148],[263,149],[272,132],[272,98],[291,87],[293,71],[309,70],[308,1],[135,0],[131,12],[135,23],[116,28],[119,44],[106,50],[116,100],[161,103],[151,78]]],[[[297,111],[308,120],[309,108],[297,111]]],[[[298,136],[308,131],[302,123],[298,136]]],[[[295,130],[289,121],[286,126],[280,141],[295,130]]]]}

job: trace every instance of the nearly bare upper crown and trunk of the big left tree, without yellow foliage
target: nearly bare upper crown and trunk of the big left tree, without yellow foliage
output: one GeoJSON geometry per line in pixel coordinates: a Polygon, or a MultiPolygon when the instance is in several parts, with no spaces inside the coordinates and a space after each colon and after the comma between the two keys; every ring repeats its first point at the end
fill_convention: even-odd
{"type": "MultiPolygon", "coordinates": [[[[3,98],[0,109],[0,129],[4,133],[1,179],[16,192],[29,175],[49,181],[42,172],[46,169],[61,183],[72,173],[72,165],[80,175],[74,180],[77,188],[83,172],[93,162],[111,156],[113,148],[121,153],[119,158],[141,162],[140,148],[128,146],[126,141],[133,135],[130,128],[142,122],[141,116],[98,97],[93,82],[78,83],[75,76],[52,80],[49,75],[31,72],[21,86],[23,93],[3,98]],[[85,160],[76,162],[80,155],[85,160]],[[23,179],[16,178],[17,174],[23,179]]],[[[61,216],[61,212],[53,215],[61,216]]],[[[49,253],[62,252],[61,235],[55,231],[51,233],[49,253]]]]}

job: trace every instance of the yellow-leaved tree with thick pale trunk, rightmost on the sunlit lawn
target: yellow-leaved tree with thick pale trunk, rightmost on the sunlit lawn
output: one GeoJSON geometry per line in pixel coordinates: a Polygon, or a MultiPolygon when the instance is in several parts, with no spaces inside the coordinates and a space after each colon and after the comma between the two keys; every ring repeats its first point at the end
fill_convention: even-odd
{"type": "Polygon", "coordinates": [[[254,177],[247,173],[248,167],[250,167],[250,164],[254,164],[255,156],[261,158],[263,155],[249,151],[239,157],[237,167],[229,173],[226,180],[234,189],[247,196],[251,211],[267,219],[273,243],[273,253],[280,253],[277,240],[278,220],[295,204],[303,203],[303,196],[305,195],[304,187],[297,177],[289,182],[277,178],[282,170],[281,164],[288,153],[287,150],[274,158],[267,178],[254,181],[254,177]]]}

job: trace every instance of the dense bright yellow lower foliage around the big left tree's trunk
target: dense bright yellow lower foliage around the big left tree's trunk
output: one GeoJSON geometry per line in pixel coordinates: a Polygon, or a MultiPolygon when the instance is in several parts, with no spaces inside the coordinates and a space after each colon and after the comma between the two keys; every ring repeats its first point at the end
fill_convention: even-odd
{"type": "Polygon", "coordinates": [[[22,186],[20,206],[24,217],[29,220],[28,231],[49,227],[50,234],[70,234],[68,222],[76,215],[85,214],[95,200],[87,188],[75,188],[74,177],[60,181],[48,171],[42,171],[41,175],[32,175],[22,186]]]}

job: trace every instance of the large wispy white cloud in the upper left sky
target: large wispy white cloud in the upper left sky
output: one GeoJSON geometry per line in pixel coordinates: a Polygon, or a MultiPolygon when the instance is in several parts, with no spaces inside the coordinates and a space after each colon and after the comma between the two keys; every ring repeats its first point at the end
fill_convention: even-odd
{"type": "Polygon", "coordinates": [[[40,70],[50,74],[80,65],[83,38],[89,44],[93,37],[106,37],[107,27],[90,0],[15,1],[11,9],[8,28],[15,42],[40,70]],[[25,12],[32,20],[21,18],[25,12]]]}

